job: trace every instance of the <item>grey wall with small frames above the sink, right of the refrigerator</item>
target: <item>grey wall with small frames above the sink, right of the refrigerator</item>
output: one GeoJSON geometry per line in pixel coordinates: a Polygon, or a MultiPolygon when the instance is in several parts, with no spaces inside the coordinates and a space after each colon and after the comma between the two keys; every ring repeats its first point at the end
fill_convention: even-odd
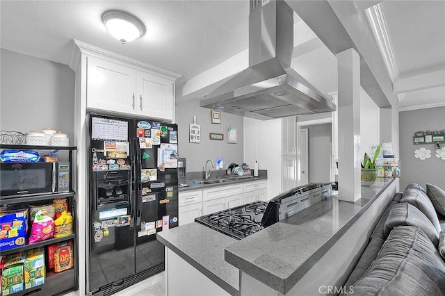
{"type": "Polygon", "coordinates": [[[199,99],[184,101],[181,98],[177,99],[175,117],[179,129],[179,156],[187,158],[187,172],[203,171],[207,159],[211,159],[216,165],[219,157],[223,159],[224,167],[232,162],[239,165],[243,163],[243,117],[221,113],[221,124],[211,124],[210,109],[201,108],[199,99]],[[193,123],[193,115],[196,115],[197,124],[201,126],[200,144],[188,141],[188,129],[193,123]],[[227,143],[229,126],[238,129],[237,144],[227,143]],[[224,140],[210,140],[210,132],[223,133],[224,140]]]}

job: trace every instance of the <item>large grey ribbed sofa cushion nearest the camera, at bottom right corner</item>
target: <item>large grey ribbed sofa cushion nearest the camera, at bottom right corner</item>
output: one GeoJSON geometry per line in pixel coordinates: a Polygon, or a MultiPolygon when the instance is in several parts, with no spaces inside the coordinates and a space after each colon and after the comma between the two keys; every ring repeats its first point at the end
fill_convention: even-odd
{"type": "Polygon", "coordinates": [[[417,227],[395,227],[354,295],[444,295],[445,262],[417,227]]]}

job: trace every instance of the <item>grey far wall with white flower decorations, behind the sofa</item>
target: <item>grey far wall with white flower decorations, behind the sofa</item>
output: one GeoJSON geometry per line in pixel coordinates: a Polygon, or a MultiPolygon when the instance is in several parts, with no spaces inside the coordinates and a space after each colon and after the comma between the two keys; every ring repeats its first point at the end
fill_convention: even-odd
{"type": "MultiPolygon", "coordinates": [[[[445,161],[435,156],[435,145],[414,145],[412,136],[416,131],[440,131],[445,129],[445,106],[399,113],[401,190],[409,183],[419,183],[425,188],[432,183],[445,189],[445,161]],[[431,157],[420,161],[414,151],[421,147],[431,150],[431,157]]],[[[442,144],[441,147],[444,147],[442,144]]],[[[425,188],[426,189],[426,188],[425,188]]]]}

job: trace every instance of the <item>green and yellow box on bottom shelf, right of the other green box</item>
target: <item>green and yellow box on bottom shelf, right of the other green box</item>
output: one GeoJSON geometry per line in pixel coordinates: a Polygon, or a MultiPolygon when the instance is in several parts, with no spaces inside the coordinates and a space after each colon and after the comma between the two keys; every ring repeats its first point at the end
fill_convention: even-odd
{"type": "Polygon", "coordinates": [[[44,250],[42,247],[30,249],[24,262],[25,289],[44,284],[44,250]]]}

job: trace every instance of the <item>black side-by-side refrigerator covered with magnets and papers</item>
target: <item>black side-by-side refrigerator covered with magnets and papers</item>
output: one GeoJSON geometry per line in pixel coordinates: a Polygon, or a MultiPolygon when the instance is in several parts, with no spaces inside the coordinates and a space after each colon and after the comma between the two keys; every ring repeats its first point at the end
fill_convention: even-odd
{"type": "Polygon", "coordinates": [[[90,113],[89,295],[164,270],[156,232],[178,226],[177,125],[90,113]]]}

